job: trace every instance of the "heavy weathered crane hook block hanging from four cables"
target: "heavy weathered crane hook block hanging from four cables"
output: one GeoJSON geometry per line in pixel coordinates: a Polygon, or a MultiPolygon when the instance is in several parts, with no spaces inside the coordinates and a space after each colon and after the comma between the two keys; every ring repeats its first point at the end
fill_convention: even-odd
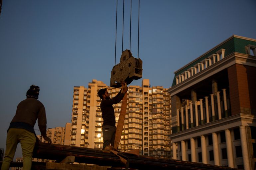
{"type": "Polygon", "coordinates": [[[134,58],[130,50],[122,52],[120,63],[111,71],[110,86],[121,87],[122,82],[129,85],[133,80],[142,78],[142,60],[134,58]]]}

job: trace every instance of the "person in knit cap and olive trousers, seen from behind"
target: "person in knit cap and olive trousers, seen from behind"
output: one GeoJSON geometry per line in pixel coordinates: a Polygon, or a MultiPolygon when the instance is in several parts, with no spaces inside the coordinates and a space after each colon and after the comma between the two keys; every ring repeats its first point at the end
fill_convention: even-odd
{"type": "Polygon", "coordinates": [[[7,130],[6,150],[1,170],[9,170],[17,144],[21,143],[23,155],[23,170],[30,170],[33,149],[36,143],[34,126],[38,120],[38,127],[44,140],[51,143],[46,136],[46,114],[44,105],[37,100],[39,86],[31,85],[27,91],[27,99],[21,101],[7,130]]]}

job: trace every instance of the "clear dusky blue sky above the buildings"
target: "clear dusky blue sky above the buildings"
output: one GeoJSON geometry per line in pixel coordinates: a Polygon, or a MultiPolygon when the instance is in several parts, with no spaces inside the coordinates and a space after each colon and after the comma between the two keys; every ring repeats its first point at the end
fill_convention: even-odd
{"type": "MultiPolygon", "coordinates": [[[[233,34],[256,39],[255,7],[255,0],[140,0],[143,79],[169,88],[176,70],[233,34]]],[[[118,0],[116,64],[122,53],[122,10],[118,0]]],[[[70,122],[73,86],[87,86],[92,79],[109,85],[115,26],[116,0],[3,0],[0,148],[30,85],[40,86],[48,128],[70,122]]],[[[132,1],[131,27],[131,52],[137,58],[138,0],[132,1]]],[[[130,48],[129,36],[130,0],[125,0],[123,50],[130,48]]]]}

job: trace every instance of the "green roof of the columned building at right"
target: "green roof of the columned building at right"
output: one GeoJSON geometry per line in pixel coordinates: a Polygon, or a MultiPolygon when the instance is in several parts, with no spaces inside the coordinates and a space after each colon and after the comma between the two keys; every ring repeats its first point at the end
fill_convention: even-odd
{"type": "Polygon", "coordinates": [[[184,68],[175,72],[175,76],[174,76],[174,79],[173,79],[172,86],[176,85],[176,77],[178,75],[180,75],[184,71],[187,71],[189,68],[193,67],[195,64],[200,63],[203,59],[208,58],[212,54],[216,54],[216,52],[218,50],[220,50],[222,48],[225,49],[225,57],[232,54],[233,52],[247,54],[246,53],[246,48],[245,48],[245,46],[247,46],[247,45],[255,45],[256,46],[256,40],[233,35],[232,37],[225,40],[223,43],[217,45],[213,49],[209,50],[205,54],[198,57],[196,60],[189,63],[184,68]]]}

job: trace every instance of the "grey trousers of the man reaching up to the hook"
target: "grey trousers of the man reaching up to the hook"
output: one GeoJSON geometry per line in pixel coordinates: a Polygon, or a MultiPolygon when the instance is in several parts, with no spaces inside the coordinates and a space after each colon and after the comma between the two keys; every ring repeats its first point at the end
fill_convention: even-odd
{"type": "Polygon", "coordinates": [[[116,127],[105,125],[102,127],[102,132],[103,132],[103,149],[110,144],[111,146],[114,146],[116,127]]]}

